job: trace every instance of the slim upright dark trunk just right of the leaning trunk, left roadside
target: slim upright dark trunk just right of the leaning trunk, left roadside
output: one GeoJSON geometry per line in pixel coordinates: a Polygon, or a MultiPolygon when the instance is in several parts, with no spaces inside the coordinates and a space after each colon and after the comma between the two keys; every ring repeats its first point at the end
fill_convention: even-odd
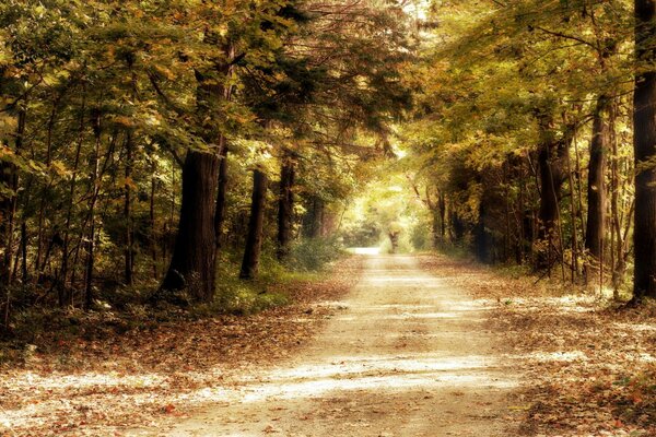
{"type": "Polygon", "coordinates": [[[285,154],[280,167],[280,191],[278,197],[278,251],[279,260],[284,260],[290,253],[292,240],[292,224],[294,221],[294,158],[285,154]]]}

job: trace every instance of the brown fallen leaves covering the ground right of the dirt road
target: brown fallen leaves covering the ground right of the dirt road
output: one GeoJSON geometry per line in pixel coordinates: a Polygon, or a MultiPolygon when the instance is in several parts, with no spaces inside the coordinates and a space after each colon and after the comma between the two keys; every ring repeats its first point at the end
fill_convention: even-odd
{"type": "Polygon", "coordinates": [[[566,284],[444,257],[422,263],[493,306],[490,329],[524,374],[509,410],[525,434],[656,435],[656,308],[609,309],[566,284]]]}

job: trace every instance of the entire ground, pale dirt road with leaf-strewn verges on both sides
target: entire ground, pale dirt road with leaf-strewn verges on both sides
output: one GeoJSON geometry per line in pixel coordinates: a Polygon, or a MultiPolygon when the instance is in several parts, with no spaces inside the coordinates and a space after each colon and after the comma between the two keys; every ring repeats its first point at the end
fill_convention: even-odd
{"type": "Polygon", "coordinates": [[[427,255],[290,294],[26,351],[0,369],[0,436],[656,435],[653,305],[427,255]]]}

